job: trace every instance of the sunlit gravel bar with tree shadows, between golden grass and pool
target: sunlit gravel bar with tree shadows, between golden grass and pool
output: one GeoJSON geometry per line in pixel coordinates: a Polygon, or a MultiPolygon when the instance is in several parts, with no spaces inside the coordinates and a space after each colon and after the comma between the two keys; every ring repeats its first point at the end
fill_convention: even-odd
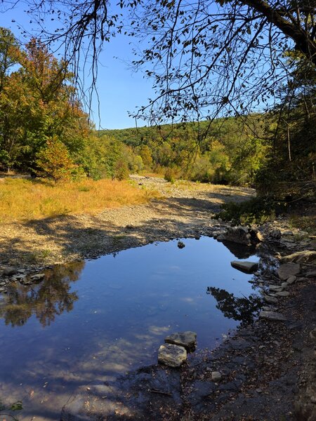
{"type": "MultiPolygon", "coordinates": [[[[178,236],[207,234],[221,203],[241,201],[254,189],[171,184],[162,178],[131,176],[138,188],[155,189],[162,199],[146,205],[105,209],[98,215],[68,215],[1,225],[0,265],[27,269],[82,258],[97,258],[125,248],[178,236]]],[[[1,269],[1,267],[0,267],[1,269]]]]}

